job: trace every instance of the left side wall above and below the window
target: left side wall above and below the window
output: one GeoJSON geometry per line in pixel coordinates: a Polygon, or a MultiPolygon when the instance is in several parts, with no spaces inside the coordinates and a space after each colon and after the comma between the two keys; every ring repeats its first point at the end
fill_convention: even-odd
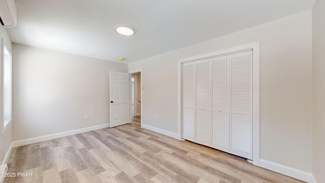
{"type": "MultiPolygon", "coordinates": [[[[6,28],[0,28],[0,38],[4,38],[4,44],[5,44],[6,48],[9,50],[9,52],[12,54],[11,40],[8,36],[6,28]]],[[[0,71],[0,76],[3,76],[2,70],[0,71]]],[[[3,77],[1,77],[0,79],[3,80],[3,77]]],[[[1,94],[2,94],[2,92],[1,92],[1,94]]],[[[1,139],[0,139],[0,164],[2,164],[4,158],[7,154],[7,151],[9,149],[9,146],[12,142],[12,130],[11,130],[12,127],[11,127],[11,125],[12,125],[12,123],[10,124],[10,126],[8,126],[8,129],[5,131],[4,135],[1,136],[1,139]]],[[[0,133],[0,135],[1,135],[1,133],[0,133]]]]}

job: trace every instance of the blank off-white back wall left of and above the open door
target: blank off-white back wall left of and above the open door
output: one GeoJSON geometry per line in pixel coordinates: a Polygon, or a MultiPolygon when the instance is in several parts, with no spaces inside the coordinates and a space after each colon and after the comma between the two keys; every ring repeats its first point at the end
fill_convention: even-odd
{"type": "Polygon", "coordinates": [[[110,70],[127,65],[13,44],[13,140],[108,124],[110,70]]]}

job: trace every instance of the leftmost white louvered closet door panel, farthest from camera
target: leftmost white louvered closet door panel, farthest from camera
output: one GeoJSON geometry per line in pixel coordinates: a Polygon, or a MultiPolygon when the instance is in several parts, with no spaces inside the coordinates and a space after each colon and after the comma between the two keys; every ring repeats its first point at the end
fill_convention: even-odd
{"type": "Polygon", "coordinates": [[[194,62],[183,64],[183,138],[194,141],[194,62]]]}

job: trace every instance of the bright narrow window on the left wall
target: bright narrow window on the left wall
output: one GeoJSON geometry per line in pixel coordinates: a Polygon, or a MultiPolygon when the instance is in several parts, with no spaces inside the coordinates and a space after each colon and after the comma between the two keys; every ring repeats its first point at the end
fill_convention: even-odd
{"type": "Polygon", "coordinates": [[[4,46],[4,127],[11,121],[11,54],[4,46]]]}

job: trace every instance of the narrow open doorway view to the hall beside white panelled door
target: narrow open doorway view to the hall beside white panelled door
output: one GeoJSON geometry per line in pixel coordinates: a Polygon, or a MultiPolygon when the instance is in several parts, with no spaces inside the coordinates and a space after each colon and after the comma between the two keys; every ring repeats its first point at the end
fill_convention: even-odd
{"type": "Polygon", "coordinates": [[[141,127],[142,117],[142,69],[129,71],[131,77],[131,117],[132,123],[141,127]]]}

